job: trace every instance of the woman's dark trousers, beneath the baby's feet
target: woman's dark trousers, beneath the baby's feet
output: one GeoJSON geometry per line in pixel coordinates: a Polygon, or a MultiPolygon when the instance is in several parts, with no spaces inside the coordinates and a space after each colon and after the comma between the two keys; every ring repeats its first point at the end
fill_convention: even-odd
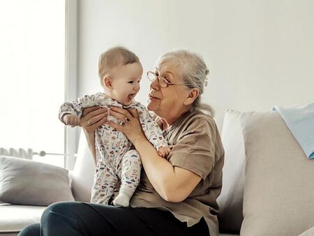
{"type": "Polygon", "coordinates": [[[204,219],[192,227],[172,213],[152,208],[114,207],[85,202],[57,202],[45,209],[40,223],[19,236],[208,236],[204,219]]]}

